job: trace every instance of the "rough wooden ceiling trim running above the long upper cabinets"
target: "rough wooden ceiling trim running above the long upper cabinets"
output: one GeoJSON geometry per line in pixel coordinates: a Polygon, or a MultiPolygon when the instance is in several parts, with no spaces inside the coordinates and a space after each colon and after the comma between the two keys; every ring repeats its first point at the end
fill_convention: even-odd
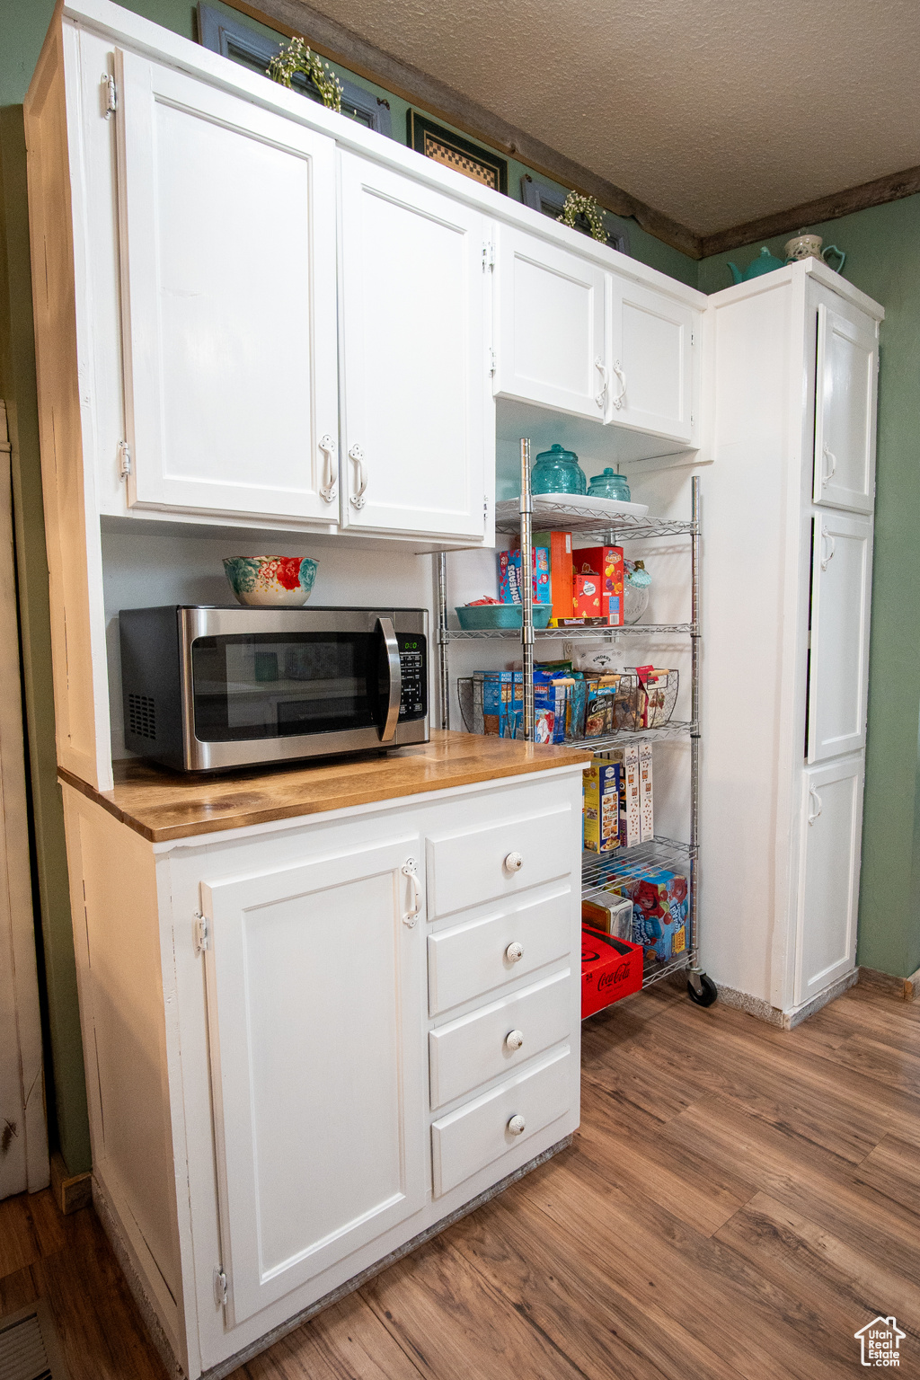
{"type": "Polygon", "coordinates": [[[596,197],[608,211],[634,219],[655,239],[663,240],[690,258],[702,258],[702,240],[686,225],[646,206],[629,192],[582,167],[581,163],[557,153],[556,149],[502,120],[486,106],[439,81],[437,77],[430,77],[418,68],[375,48],[345,25],[319,14],[305,0],[259,0],[258,8],[244,0],[232,3],[250,18],[288,37],[305,39],[321,57],[338,62],[349,72],[374,81],[411,105],[419,105],[428,113],[440,116],[474,139],[512,155],[553,182],[596,197]]]}

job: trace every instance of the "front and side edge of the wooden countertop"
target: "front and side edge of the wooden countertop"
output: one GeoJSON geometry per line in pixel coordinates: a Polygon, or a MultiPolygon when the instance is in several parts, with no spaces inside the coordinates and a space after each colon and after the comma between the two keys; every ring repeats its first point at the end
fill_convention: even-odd
{"type": "Polygon", "coordinates": [[[554,755],[546,762],[531,759],[530,762],[509,762],[505,766],[490,763],[488,770],[483,770],[481,773],[470,773],[469,763],[466,763],[465,766],[458,765],[454,770],[447,769],[444,777],[439,781],[419,782],[419,788],[415,791],[407,791],[407,782],[403,778],[401,781],[394,782],[392,788],[378,784],[372,789],[370,787],[352,792],[341,789],[337,795],[330,796],[328,799],[298,800],[290,805],[269,807],[241,807],[240,810],[228,809],[223,814],[215,816],[210,820],[196,820],[188,824],[164,824],[160,827],[143,824],[135,816],[123,810],[110,795],[97,791],[95,787],[90,785],[87,781],[81,781],[80,777],[68,771],[66,767],[58,766],[58,778],[61,781],[66,781],[69,787],[73,787],[74,791],[87,796],[88,800],[94,800],[97,805],[102,806],[102,809],[113,816],[113,818],[116,818],[120,824],[127,825],[127,828],[139,834],[141,838],[146,839],[149,843],[168,843],[172,839],[194,838],[199,834],[222,834],[228,829],[244,829],[252,824],[273,824],[276,820],[306,818],[312,814],[327,814],[334,810],[346,810],[349,806],[375,805],[378,800],[399,800],[401,796],[411,799],[415,795],[430,795],[434,791],[450,791],[451,788],[461,785],[477,785],[483,781],[498,781],[506,777],[532,776],[537,771],[552,771],[557,767],[581,766],[582,770],[586,770],[590,763],[590,752],[572,748],[570,753],[560,752],[559,756],[554,755]]]}

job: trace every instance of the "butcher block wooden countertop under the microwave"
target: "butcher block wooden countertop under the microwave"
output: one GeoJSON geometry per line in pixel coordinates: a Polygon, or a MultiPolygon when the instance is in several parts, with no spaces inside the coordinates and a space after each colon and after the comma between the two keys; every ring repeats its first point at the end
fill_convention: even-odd
{"type": "Polygon", "coordinates": [[[434,731],[430,742],[388,756],[337,758],[208,777],[183,776],[134,759],[116,762],[113,791],[97,791],[63,767],[58,767],[58,776],[150,843],[166,843],[552,767],[586,767],[590,756],[583,748],[563,744],[434,731]]]}

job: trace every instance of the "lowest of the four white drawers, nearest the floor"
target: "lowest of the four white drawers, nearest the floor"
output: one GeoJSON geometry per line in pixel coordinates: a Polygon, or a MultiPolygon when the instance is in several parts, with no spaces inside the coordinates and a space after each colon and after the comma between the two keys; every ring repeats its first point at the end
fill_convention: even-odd
{"type": "Polygon", "coordinates": [[[571,1050],[566,1045],[535,1068],[432,1122],[434,1196],[450,1192],[563,1116],[571,1105],[571,1050]],[[514,1118],[524,1123],[519,1134],[509,1126],[514,1118]]]}

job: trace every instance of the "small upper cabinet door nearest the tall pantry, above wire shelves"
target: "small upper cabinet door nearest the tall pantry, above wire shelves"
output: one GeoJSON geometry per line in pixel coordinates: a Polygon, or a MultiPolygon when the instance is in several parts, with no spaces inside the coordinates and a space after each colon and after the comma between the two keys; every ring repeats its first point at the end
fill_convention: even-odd
{"type": "Polygon", "coordinates": [[[677,440],[694,431],[694,310],[611,276],[607,421],[677,440]]]}

